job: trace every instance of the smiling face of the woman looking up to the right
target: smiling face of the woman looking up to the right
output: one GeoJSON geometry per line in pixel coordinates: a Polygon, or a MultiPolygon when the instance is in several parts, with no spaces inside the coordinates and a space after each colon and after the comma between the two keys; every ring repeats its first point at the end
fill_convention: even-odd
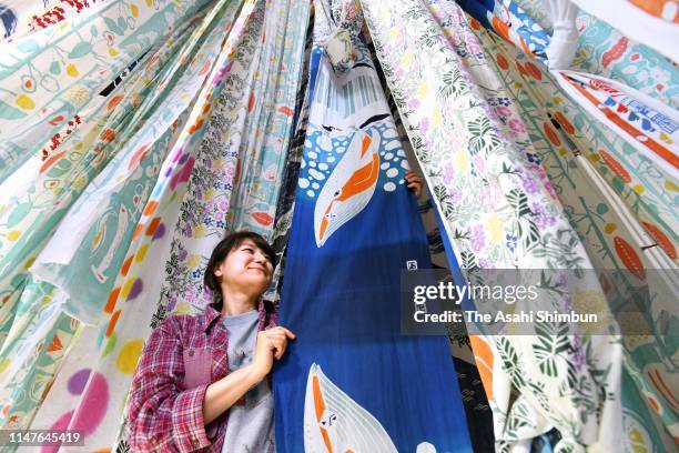
{"type": "Polygon", "coordinates": [[[214,270],[220,281],[230,288],[246,292],[266,291],[273,275],[273,264],[262,249],[245,239],[233,249],[214,270]]]}

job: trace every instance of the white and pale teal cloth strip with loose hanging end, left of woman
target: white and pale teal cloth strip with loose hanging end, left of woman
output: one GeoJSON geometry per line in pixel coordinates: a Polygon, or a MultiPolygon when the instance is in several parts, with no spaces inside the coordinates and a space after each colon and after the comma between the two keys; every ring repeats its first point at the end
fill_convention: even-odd
{"type": "MultiPolygon", "coordinates": [[[[175,167],[184,167],[186,159],[180,162],[181,147],[185,145],[192,135],[186,133],[190,124],[186,124],[189,111],[185,110],[193,103],[192,100],[197,94],[195,91],[197,84],[204,79],[197,74],[197,71],[205,68],[204,59],[211,56],[214,58],[217,53],[214,46],[221,41],[219,30],[225,23],[225,20],[221,24],[216,23],[214,16],[207,14],[205,18],[207,28],[212,28],[207,40],[201,43],[201,39],[195,39],[197,37],[189,39],[185,57],[195,52],[194,47],[204,44],[193,61],[194,66],[183,71],[181,77],[176,77],[174,74],[182,64],[180,62],[168,64],[161,73],[164,80],[161,79],[160,88],[154,92],[155,95],[146,97],[133,118],[123,118],[121,122],[118,122],[120,117],[116,118],[113,114],[107,122],[108,128],[102,133],[104,135],[102,140],[113,143],[112,147],[115,147],[116,135],[121,141],[124,141],[126,133],[133,138],[126,141],[128,147],[122,147],[80,194],[53,233],[52,242],[43,245],[41,254],[31,269],[33,279],[42,280],[40,283],[43,285],[44,281],[48,281],[47,284],[51,285],[52,291],[48,295],[53,298],[53,306],[57,310],[63,310],[89,323],[101,320],[100,312],[105,302],[107,288],[112,286],[111,276],[115,275],[111,273],[109,266],[121,265],[124,248],[129,243],[136,219],[141,215],[143,204],[151,194],[165,153],[172,150],[173,160],[169,165],[163,165],[163,170],[169,172],[175,167]],[[173,79],[173,76],[179,80],[173,79]],[[176,82],[176,84],[169,83],[169,81],[176,82]],[[165,99],[164,109],[154,110],[159,98],[165,99]],[[125,124],[126,120],[132,121],[125,124]],[[143,120],[149,120],[149,122],[143,120]],[[179,128],[174,129],[172,125],[179,128]],[[131,128],[132,131],[128,128],[131,128]],[[178,131],[182,131],[183,135],[175,133],[178,131]],[[175,141],[183,143],[173,149],[173,145],[176,145],[175,141]],[[60,260],[65,260],[65,262],[60,262],[60,260]],[[64,264],[61,268],[63,273],[51,268],[51,263],[64,264]],[[83,282],[88,282],[84,288],[91,292],[83,291],[81,286],[83,282]],[[79,296],[84,298],[79,299],[79,296]],[[98,304],[100,301],[101,304],[98,304]]],[[[121,102],[121,104],[125,103],[121,102]]],[[[44,219],[36,220],[43,221],[44,219]]],[[[49,228],[49,224],[47,226],[49,228]]],[[[26,292],[27,296],[29,294],[30,292],[26,292]]],[[[31,301],[22,296],[21,304],[28,303],[31,301]]],[[[32,301],[32,303],[38,303],[38,301],[32,301]]],[[[41,322],[41,325],[47,325],[47,323],[41,322]]],[[[16,332],[16,325],[12,325],[12,330],[16,332]]],[[[27,354],[27,348],[39,344],[42,335],[36,333],[29,335],[29,332],[22,332],[21,336],[14,336],[10,331],[9,338],[20,340],[19,344],[12,341],[3,349],[3,353],[14,356],[9,369],[21,370],[21,373],[8,374],[8,379],[18,384],[8,385],[8,387],[17,392],[27,384],[22,380],[22,375],[31,370],[31,366],[27,364],[34,362],[34,359],[27,354]]],[[[18,406],[13,409],[19,410],[18,406]]]]}

